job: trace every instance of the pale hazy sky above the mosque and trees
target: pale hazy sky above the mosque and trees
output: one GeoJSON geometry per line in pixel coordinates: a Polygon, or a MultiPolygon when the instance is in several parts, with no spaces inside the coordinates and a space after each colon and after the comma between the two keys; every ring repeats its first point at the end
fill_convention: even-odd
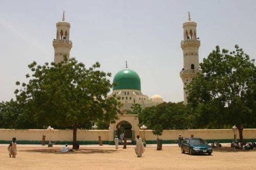
{"type": "Polygon", "coordinates": [[[100,62],[114,75],[128,67],[141,91],[166,102],[183,101],[180,42],[187,11],[197,22],[199,62],[216,45],[240,45],[256,57],[256,1],[5,1],[0,0],[0,101],[15,98],[16,81],[26,82],[28,64],[54,60],[52,40],[62,10],[71,24],[71,57],[87,67],[100,62]]]}

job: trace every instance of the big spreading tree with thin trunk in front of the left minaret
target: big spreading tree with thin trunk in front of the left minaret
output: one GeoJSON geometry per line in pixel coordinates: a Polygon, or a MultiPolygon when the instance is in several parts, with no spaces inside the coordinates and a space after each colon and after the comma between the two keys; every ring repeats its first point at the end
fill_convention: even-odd
{"type": "Polygon", "coordinates": [[[120,112],[120,102],[114,97],[107,98],[112,88],[108,79],[111,74],[98,70],[98,62],[87,69],[74,58],[63,58],[60,63],[42,66],[31,63],[32,77],[27,74],[29,82],[22,83],[15,94],[18,103],[26,104],[26,113],[38,126],[72,128],[76,149],[77,128],[98,120],[113,122],[120,112]]]}

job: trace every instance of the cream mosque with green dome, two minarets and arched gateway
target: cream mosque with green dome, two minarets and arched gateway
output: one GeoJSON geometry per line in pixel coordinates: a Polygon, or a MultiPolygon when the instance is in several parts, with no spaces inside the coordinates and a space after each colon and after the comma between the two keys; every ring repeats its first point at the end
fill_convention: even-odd
{"type": "MultiPolygon", "coordinates": [[[[58,63],[62,60],[63,55],[70,57],[72,42],[70,40],[70,23],[65,20],[65,11],[63,11],[62,21],[56,23],[56,39],[53,40],[54,62],[58,63]]],[[[180,71],[180,77],[185,87],[191,80],[201,72],[199,69],[198,50],[200,40],[197,37],[197,23],[191,21],[188,12],[188,20],[183,23],[183,40],[181,48],[183,51],[183,68],[180,71]]],[[[125,114],[131,110],[133,104],[140,104],[141,108],[156,106],[163,103],[160,95],[153,95],[149,98],[141,92],[141,80],[137,72],[127,67],[117,72],[113,79],[115,86],[108,96],[116,95],[123,104],[120,110],[124,113],[118,115],[118,121],[110,124],[109,139],[114,139],[116,134],[120,134],[120,128],[125,128],[126,138],[135,140],[135,136],[139,134],[138,115],[125,114]]],[[[184,91],[184,104],[187,104],[187,92],[184,91]]]]}

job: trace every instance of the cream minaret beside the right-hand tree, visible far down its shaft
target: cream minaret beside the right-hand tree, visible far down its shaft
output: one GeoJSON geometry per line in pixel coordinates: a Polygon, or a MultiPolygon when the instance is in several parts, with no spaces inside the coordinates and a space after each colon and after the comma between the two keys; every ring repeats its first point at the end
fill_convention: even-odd
{"type": "MultiPolygon", "coordinates": [[[[183,23],[184,39],[181,41],[183,51],[183,68],[180,71],[180,77],[185,88],[188,83],[197,76],[199,70],[198,49],[200,40],[197,38],[197,23],[191,21],[190,12],[188,12],[188,21],[183,23]]],[[[184,104],[187,104],[187,92],[184,90],[184,104]]]]}

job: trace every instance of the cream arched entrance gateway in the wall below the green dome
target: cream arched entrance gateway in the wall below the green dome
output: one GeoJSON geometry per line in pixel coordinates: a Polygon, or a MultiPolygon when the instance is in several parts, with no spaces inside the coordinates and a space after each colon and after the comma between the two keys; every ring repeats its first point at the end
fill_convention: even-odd
{"type": "Polygon", "coordinates": [[[114,143],[115,136],[120,134],[121,129],[125,130],[125,137],[128,140],[135,141],[135,136],[139,135],[139,118],[137,114],[118,115],[116,123],[110,124],[109,141],[114,143]]]}

